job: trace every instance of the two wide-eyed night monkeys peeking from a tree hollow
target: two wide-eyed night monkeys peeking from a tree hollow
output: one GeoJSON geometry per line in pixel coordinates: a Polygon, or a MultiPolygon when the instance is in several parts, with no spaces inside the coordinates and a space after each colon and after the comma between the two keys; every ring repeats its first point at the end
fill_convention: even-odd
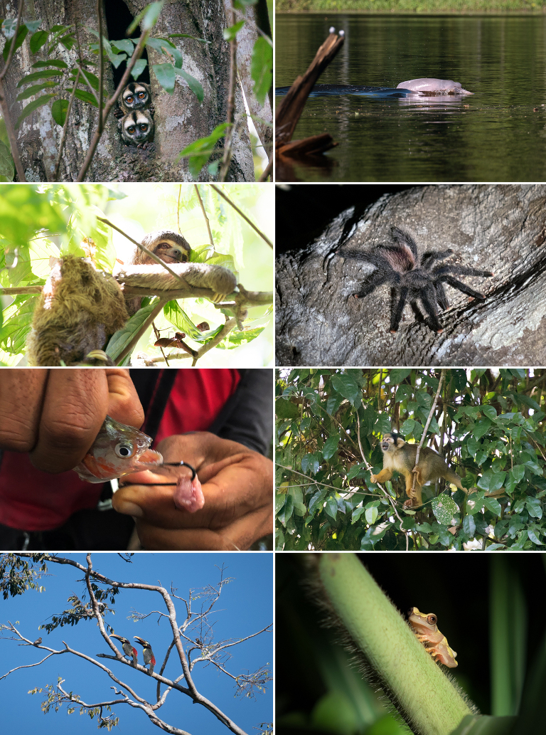
{"type": "Polygon", "coordinates": [[[130,82],[118,99],[114,115],[119,120],[118,130],[126,146],[148,148],[155,132],[150,85],[130,82]]]}

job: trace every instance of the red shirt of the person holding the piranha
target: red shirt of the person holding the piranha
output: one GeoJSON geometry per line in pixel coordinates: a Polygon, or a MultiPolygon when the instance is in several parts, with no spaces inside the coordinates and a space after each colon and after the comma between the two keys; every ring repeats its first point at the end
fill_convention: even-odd
{"type": "MultiPolygon", "coordinates": [[[[156,442],[173,434],[206,431],[235,392],[239,380],[237,370],[178,370],[156,442]]],[[[32,466],[28,454],[4,451],[0,467],[0,523],[23,531],[59,528],[76,511],[94,508],[102,487],[80,480],[72,470],[58,475],[40,472],[32,466]]]]}

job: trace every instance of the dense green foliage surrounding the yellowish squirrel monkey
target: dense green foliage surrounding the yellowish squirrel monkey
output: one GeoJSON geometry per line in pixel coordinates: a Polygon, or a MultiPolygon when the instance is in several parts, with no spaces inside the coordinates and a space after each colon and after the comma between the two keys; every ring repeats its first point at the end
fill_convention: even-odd
{"type": "Polygon", "coordinates": [[[419,442],[438,383],[439,370],[281,371],[277,548],[544,544],[545,370],[445,371],[425,445],[439,451],[469,492],[451,492],[442,481],[423,488],[422,509],[403,511],[403,481],[384,490],[370,483],[366,462],[374,473],[382,467],[378,437],[394,429],[419,442]]]}

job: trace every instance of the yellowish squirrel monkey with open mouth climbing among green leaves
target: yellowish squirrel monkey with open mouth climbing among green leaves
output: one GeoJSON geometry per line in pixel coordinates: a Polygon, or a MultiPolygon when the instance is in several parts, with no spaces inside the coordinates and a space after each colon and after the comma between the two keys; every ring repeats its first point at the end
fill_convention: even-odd
{"type": "MultiPolygon", "coordinates": [[[[403,508],[416,508],[422,505],[421,488],[428,481],[435,482],[443,477],[461,490],[461,478],[448,465],[434,449],[422,447],[419,453],[419,465],[415,467],[417,456],[417,445],[407,444],[396,431],[392,434],[384,434],[381,442],[383,451],[383,469],[378,475],[372,475],[370,481],[384,482],[392,478],[393,472],[399,472],[406,478],[406,495],[409,500],[403,504],[403,508]],[[415,490],[413,490],[413,470],[416,471],[415,490]]],[[[464,490],[467,492],[467,490],[464,490]]]]}

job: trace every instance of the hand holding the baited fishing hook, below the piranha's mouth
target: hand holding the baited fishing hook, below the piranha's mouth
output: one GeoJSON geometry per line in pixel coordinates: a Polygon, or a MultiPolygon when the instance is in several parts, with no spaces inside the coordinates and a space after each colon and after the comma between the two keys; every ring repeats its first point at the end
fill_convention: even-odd
{"type": "Polygon", "coordinates": [[[165,462],[183,459],[195,467],[205,503],[194,513],[177,507],[175,486],[162,485],[165,476],[141,472],[124,478],[112,505],[134,517],[143,548],[243,550],[273,530],[270,459],[207,431],[167,437],[157,451],[165,462]],[[154,480],[159,484],[149,484],[154,480]]]}

